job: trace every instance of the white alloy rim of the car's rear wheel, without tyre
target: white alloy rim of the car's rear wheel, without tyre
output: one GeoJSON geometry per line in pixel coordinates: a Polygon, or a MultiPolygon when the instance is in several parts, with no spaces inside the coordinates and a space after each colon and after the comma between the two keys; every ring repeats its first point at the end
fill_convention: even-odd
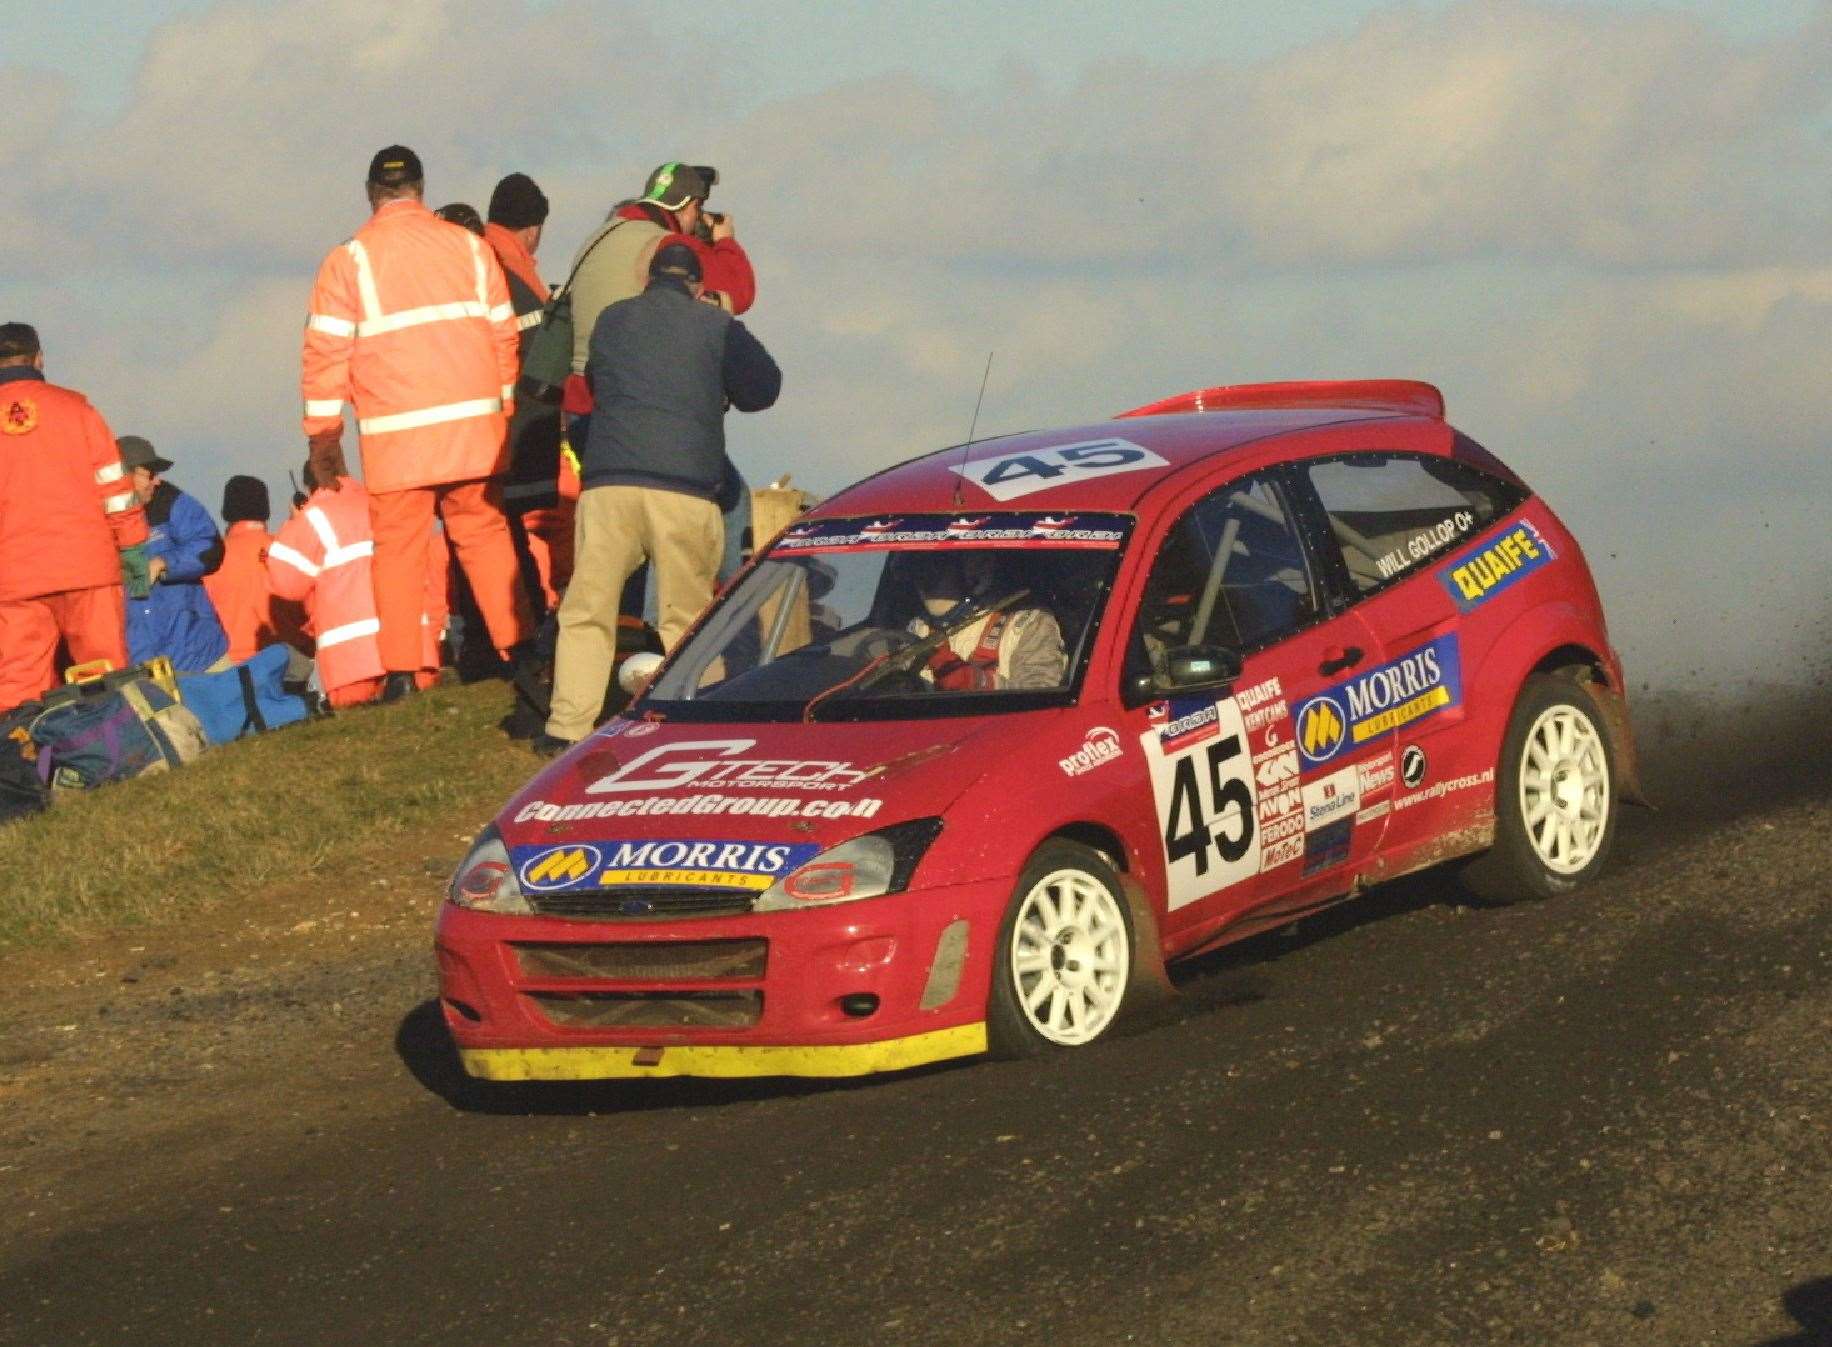
{"type": "Polygon", "coordinates": [[[1550,706],[1526,731],[1521,761],[1521,817],[1541,863],[1577,874],[1603,847],[1608,830],[1608,755],[1587,715],[1550,706]]]}

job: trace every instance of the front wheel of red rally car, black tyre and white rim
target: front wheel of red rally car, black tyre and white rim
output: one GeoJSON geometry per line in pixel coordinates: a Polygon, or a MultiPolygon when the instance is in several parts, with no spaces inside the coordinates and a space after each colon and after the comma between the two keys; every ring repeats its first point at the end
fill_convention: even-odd
{"type": "Polygon", "coordinates": [[[1077,1048],[1107,1034],[1132,977],[1132,916],[1099,852],[1048,841],[1019,876],[998,927],[986,1028],[1004,1057],[1077,1048]]]}

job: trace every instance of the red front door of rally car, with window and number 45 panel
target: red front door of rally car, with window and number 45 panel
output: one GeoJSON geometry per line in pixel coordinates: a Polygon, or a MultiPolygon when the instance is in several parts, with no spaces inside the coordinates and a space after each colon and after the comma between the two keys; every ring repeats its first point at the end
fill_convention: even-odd
{"type": "Polygon", "coordinates": [[[1129,641],[1123,733],[1150,775],[1169,949],[1328,882],[1372,845],[1354,832],[1358,790],[1343,788],[1359,755],[1306,781],[1295,707],[1343,669],[1378,660],[1379,647],[1359,614],[1334,612],[1281,469],[1182,509],[1129,641]],[[1198,665],[1213,656],[1238,673],[1178,684],[1178,660],[1189,673],[1191,652],[1198,665]]]}

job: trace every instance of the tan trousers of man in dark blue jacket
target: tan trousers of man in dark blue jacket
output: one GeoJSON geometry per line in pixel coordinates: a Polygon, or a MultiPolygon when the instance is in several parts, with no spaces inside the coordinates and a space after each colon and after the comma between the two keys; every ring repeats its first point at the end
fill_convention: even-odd
{"type": "Polygon", "coordinates": [[[584,739],[597,724],[617,658],[617,603],[643,559],[656,568],[661,647],[713,601],[725,524],[711,500],[645,486],[592,486],[573,520],[573,574],[561,599],[548,733],[584,739]]]}

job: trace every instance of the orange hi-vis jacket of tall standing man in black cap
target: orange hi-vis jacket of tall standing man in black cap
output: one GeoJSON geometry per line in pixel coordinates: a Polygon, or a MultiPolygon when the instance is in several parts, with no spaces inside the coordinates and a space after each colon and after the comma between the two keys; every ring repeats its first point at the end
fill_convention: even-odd
{"type": "Polygon", "coordinates": [[[306,436],[355,409],[374,493],[495,476],[507,460],[517,326],[489,246],[421,202],[383,202],[319,268],[300,390],[306,436]]]}

